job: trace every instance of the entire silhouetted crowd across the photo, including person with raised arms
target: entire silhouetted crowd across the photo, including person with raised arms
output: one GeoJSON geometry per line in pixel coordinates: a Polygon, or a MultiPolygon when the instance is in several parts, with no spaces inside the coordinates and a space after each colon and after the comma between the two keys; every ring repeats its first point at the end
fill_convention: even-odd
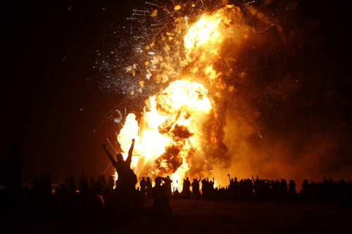
{"type": "Polygon", "coordinates": [[[227,174],[227,186],[215,186],[215,179],[184,178],[182,190],[172,188],[169,176],[144,178],[136,186],[137,176],[130,168],[134,140],[126,160],[120,153],[114,158],[103,145],[106,155],[118,173],[106,180],[105,176],[88,178],[84,174],[78,178],[70,176],[64,183],[54,187],[51,175],[43,174],[33,178],[32,182],[23,185],[23,157],[20,145],[15,145],[13,152],[2,163],[0,174],[0,218],[18,209],[27,211],[55,212],[56,214],[72,214],[74,212],[89,213],[108,212],[123,219],[134,219],[143,214],[161,218],[172,216],[170,198],[194,200],[318,200],[341,202],[351,205],[352,184],[350,179],[334,181],[332,178],[322,182],[304,180],[300,190],[296,190],[293,180],[284,178],[273,180],[246,178],[238,180],[227,174]],[[152,200],[151,207],[144,208],[144,203],[152,200]]]}

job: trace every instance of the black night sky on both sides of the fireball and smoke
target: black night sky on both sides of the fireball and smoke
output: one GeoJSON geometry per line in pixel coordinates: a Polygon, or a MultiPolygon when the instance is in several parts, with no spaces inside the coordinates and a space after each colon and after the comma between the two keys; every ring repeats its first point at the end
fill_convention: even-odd
{"type": "MultiPolygon", "coordinates": [[[[294,20],[300,25],[317,22],[320,27],[302,30],[310,33],[302,36],[306,49],[292,67],[297,74],[315,75],[291,96],[296,100],[288,100],[303,107],[291,108],[287,119],[300,122],[309,113],[316,131],[338,122],[340,129],[332,127],[331,134],[334,130],[343,133],[336,136],[346,141],[342,144],[346,148],[340,150],[345,162],[351,163],[351,4],[297,2],[294,20]],[[306,104],[307,98],[313,103],[306,104]]],[[[112,32],[112,25],[130,16],[133,7],[127,0],[15,1],[1,6],[1,156],[8,155],[14,143],[21,143],[27,178],[44,171],[55,177],[61,171],[97,176],[106,169],[108,158],[101,145],[114,137],[115,125],[103,114],[117,100],[99,91],[96,50],[112,32]]],[[[287,27],[294,20],[288,20],[287,27]]],[[[284,114],[263,116],[276,119],[275,115],[284,114]]],[[[284,128],[275,129],[282,124],[282,118],[277,119],[272,122],[272,134],[279,136],[284,128]]],[[[304,128],[298,127],[297,135],[304,128]]]]}

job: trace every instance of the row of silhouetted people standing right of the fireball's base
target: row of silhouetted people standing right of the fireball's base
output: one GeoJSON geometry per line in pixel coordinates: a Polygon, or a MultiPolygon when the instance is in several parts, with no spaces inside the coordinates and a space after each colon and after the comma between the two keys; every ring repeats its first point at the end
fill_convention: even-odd
{"type": "Polygon", "coordinates": [[[213,181],[208,178],[203,180],[194,178],[192,183],[189,178],[186,178],[182,192],[178,193],[176,190],[173,195],[180,198],[204,200],[317,200],[341,202],[341,204],[351,204],[352,202],[352,183],[349,178],[341,181],[324,178],[322,182],[308,182],[305,179],[301,189],[298,190],[295,181],[289,180],[287,182],[284,178],[274,181],[252,176],[252,178],[238,180],[236,177],[230,178],[230,174],[227,176],[229,176],[229,184],[225,187],[215,187],[214,178],[213,181]]]}

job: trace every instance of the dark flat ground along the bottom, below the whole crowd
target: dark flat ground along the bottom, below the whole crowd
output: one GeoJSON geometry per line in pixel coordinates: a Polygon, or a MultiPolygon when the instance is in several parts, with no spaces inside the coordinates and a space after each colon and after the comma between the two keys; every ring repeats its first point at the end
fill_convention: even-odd
{"type": "MultiPolygon", "coordinates": [[[[146,202],[146,206],[151,201],[146,202]]],[[[350,233],[352,209],[336,202],[170,200],[174,216],[118,221],[104,214],[2,222],[0,233],[350,233]]]]}

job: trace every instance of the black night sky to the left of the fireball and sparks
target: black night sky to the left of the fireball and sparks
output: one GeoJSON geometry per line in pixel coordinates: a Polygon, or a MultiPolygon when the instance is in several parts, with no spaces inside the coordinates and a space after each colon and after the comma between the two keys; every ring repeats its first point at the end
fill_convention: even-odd
{"type": "Polygon", "coordinates": [[[128,2],[17,1],[3,8],[1,155],[21,143],[27,175],[106,169],[101,145],[114,126],[101,124],[109,97],[99,93],[93,67],[99,37],[130,15],[128,2]]]}

